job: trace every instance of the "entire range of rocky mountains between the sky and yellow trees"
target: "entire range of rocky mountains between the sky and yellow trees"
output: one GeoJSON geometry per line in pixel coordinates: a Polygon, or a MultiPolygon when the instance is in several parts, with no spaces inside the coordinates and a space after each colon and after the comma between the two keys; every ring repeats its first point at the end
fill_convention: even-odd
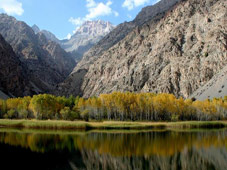
{"type": "Polygon", "coordinates": [[[0,91],[15,96],[90,97],[113,91],[225,96],[226,6],[225,0],[161,0],[117,27],[87,21],[69,40],[1,14],[0,91]],[[8,80],[9,72],[17,78],[8,80]],[[210,94],[212,89],[217,92],[210,94]]]}

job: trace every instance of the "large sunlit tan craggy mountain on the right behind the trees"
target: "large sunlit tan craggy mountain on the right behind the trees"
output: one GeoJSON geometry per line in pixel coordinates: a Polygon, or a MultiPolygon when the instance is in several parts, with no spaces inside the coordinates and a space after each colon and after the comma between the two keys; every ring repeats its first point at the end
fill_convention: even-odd
{"type": "Polygon", "coordinates": [[[176,2],[160,1],[158,4],[166,8],[157,7],[160,11],[150,18],[147,15],[155,5],[142,10],[136,20],[142,22],[138,18],[144,17],[145,23],[132,28],[125,37],[123,34],[120,41],[113,43],[114,39],[113,45],[102,42],[118,28],[108,34],[98,43],[100,50],[98,45],[92,48],[58,86],[58,94],[89,97],[113,91],[142,91],[187,98],[205,85],[227,64],[227,2],[176,2]],[[94,56],[92,61],[89,55],[94,56]]]}

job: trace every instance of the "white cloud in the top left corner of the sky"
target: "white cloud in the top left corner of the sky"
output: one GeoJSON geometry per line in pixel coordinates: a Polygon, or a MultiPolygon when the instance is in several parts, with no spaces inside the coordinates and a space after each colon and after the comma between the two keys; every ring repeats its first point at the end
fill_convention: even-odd
{"type": "Polygon", "coordinates": [[[22,3],[17,0],[0,0],[0,9],[8,15],[22,15],[24,13],[22,3]]]}

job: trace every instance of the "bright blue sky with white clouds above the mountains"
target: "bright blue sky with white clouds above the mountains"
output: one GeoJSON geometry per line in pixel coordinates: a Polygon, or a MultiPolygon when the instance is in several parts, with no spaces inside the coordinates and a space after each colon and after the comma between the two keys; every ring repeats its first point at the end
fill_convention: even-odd
{"type": "Polygon", "coordinates": [[[104,20],[118,25],[131,21],[158,0],[0,0],[0,13],[54,33],[59,39],[72,35],[86,20],[104,20]]]}

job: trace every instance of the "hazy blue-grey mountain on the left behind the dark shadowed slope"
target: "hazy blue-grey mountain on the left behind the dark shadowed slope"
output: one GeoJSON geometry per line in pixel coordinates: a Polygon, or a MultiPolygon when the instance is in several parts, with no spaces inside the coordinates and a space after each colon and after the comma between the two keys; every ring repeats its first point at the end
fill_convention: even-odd
{"type": "Polygon", "coordinates": [[[21,63],[28,69],[28,79],[46,92],[62,82],[72,71],[75,61],[60,45],[34,33],[26,23],[6,14],[0,15],[0,34],[12,46],[21,63]]]}

